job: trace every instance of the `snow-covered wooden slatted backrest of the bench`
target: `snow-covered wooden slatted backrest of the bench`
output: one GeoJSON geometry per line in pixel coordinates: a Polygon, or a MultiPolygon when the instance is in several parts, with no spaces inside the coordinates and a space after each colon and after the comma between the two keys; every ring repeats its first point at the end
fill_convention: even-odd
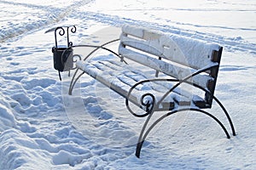
{"type": "MultiPolygon", "coordinates": [[[[120,35],[119,54],[122,57],[179,80],[195,71],[216,65],[211,70],[189,79],[190,82],[208,89],[212,94],[218,76],[221,53],[222,47],[218,44],[142,27],[123,26],[120,35]]],[[[208,107],[211,107],[212,96],[204,95],[208,107]]]]}

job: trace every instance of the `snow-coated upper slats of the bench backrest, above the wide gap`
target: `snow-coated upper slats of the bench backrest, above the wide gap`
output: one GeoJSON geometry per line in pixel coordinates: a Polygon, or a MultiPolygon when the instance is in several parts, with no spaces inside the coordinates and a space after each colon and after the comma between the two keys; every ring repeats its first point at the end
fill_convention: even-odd
{"type": "MultiPolygon", "coordinates": [[[[136,48],[195,70],[212,65],[212,52],[220,48],[218,44],[135,26],[123,26],[120,40],[123,46],[136,48]]],[[[119,53],[121,54],[120,50],[119,53]]]]}

